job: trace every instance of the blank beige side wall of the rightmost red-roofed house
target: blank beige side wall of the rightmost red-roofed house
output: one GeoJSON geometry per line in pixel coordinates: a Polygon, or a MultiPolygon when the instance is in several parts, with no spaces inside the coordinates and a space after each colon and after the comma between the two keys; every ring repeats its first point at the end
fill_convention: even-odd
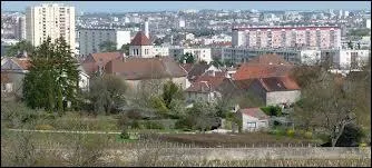
{"type": "Polygon", "coordinates": [[[300,99],[300,90],[266,92],[266,106],[285,102],[292,103],[297,101],[300,99]]]}

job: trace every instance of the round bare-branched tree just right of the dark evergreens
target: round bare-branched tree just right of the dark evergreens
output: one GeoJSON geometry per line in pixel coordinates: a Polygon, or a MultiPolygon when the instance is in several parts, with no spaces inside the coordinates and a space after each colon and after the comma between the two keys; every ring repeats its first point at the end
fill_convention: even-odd
{"type": "Polygon", "coordinates": [[[88,93],[88,99],[94,105],[95,112],[104,110],[109,113],[126,103],[127,85],[116,76],[96,76],[91,78],[89,87],[91,91],[88,93]]]}

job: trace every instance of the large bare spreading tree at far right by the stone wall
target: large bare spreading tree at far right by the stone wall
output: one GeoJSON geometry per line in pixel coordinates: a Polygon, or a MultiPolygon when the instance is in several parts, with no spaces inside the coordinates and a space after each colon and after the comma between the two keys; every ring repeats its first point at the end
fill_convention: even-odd
{"type": "Polygon", "coordinates": [[[296,115],[293,118],[297,122],[303,121],[306,128],[324,130],[334,147],[345,127],[356,122],[355,92],[344,78],[330,73],[323,67],[298,75],[304,71],[294,70],[296,77],[302,77],[297,78],[302,100],[295,105],[296,115]]]}

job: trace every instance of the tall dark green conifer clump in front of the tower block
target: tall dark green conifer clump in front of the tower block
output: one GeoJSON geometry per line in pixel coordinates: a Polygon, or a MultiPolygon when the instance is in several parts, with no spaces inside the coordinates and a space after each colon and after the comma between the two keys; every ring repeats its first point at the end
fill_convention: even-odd
{"type": "Polygon", "coordinates": [[[48,37],[31,55],[31,68],[25,77],[23,97],[27,106],[63,111],[63,101],[76,107],[79,70],[70,47],[63,38],[55,43],[48,37]]]}

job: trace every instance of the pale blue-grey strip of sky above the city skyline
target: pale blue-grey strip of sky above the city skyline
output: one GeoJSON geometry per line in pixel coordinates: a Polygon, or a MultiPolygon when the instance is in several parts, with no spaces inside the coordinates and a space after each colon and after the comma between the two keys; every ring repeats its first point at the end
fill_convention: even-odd
{"type": "MultiPolygon", "coordinates": [[[[1,10],[25,11],[28,6],[52,1],[1,1],[1,10]]],[[[215,10],[371,10],[370,1],[58,1],[76,7],[78,12],[130,12],[184,9],[215,10]]]]}

